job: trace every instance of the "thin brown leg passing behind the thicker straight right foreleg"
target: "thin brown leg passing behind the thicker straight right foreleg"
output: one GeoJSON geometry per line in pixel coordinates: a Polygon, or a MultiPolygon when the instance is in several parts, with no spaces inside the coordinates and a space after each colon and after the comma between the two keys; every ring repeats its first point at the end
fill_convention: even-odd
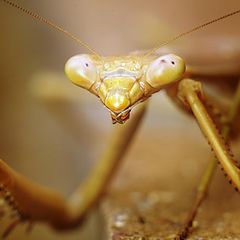
{"type": "MultiPolygon", "coordinates": [[[[197,89],[194,89],[194,90],[197,90],[197,89]]],[[[201,91],[201,89],[199,89],[199,90],[201,91]]],[[[180,94],[182,94],[182,93],[180,93],[180,94]]],[[[180,96],[183,97],[183,95],[180,95],[180,96]]],[[[235,118],[238,114],[239,106],[240,106],[240,81],[239,81],[238,88],[235,93],[235,97],[233,99],[232,105],[228,112],[227,124],[223,126],[222,131],[221,131],[221,134],[225,139],[227,139],[229,137],[229,132],[230,132],[231,126],[234,123],[235,118]]],[[[175,238],[176,240],[185,239],[187,237],[187,235],[189,234],[189,230],[192,227],[192,224],[193,224],[194,218],[198,212],[198,209],[201,206],[203,200],[205,199],[205,197],[207,195],[208,188],[211,183],[216,166],[217,166],[217,159],[216,158],[211,159],[208,163],[208,166],[207,166],[202,178],[201,178],[201,181],[200,181],[200,184],[199,184],[198,190],[197,190],[197,195],[196,195],[194,204],[192,206],[192,209],[188,214],[188,217],[186,219],[185,224],[183,225],[183,228],[177,234],[177,237],[175,238]]]]}

